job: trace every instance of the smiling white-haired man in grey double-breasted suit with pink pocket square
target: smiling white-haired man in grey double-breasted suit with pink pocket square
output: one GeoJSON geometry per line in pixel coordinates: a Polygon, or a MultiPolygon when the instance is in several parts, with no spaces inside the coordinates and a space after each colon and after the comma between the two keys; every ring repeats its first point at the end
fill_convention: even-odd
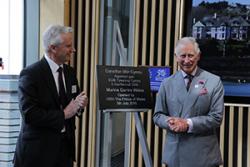
{"type": "Polygon", "coordinates": [[[220,78],[198,67],[200,49],[192,37],[175,48],[180,70],[159,89],[154,123],[166,129],[162,162],[168,167],[216,167],[222,164],[216,129],[224,111],[220,78]]]}

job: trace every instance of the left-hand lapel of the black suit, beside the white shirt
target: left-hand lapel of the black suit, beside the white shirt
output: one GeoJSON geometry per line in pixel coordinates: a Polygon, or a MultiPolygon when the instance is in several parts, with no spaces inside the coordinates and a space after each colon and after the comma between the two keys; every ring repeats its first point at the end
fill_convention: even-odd
{"type": "Polygon", "coordinates": [[[58,93],[57,93],[56,83],[55,83],[53,74],[51,72],[51,69],[49,67],[49,64],[48,64],[48,62],[46,61],[45,58],[41,59],[41,65],[42,65],[42,69],[43,69],[42,70],[42,72],[43,72],[42,75],[44,76],[45,82],[46,82],[47,86],[49,87],[49,89],[51,90],[52,95],[53,95],[56,103],[59,106],[60,103],[59,103],[59,97],[58,97],[58,93]]]}

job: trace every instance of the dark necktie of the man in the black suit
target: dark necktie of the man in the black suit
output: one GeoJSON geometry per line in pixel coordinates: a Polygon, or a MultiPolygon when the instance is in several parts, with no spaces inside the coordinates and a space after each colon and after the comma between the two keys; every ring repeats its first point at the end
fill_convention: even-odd
{"type": "Polygon", "coordinates": [[[63,83],[63,68],[59,67],[58,68],[58,86],[59,86],[59,101],[61,103],[62,108],[66,107],[66,103],[67,103],[67,96],[66,96],[66,92],[65,92],[65,87],[64,87],[64,83],[63,83]]]}

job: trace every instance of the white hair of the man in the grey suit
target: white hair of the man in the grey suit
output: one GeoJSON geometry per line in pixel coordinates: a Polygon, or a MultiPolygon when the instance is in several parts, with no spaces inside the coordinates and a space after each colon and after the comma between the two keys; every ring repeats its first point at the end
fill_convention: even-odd
{"type": "Polygon", "coordinates": [[[181,54],[182,48],[187,45],[192,44],[194,46],[194,51],[196,54],[200,54],[199,44],[196,42],[195,38],[193,37],[183,37],[179,41],[177,41],[174,53],[176,56],[181,54]]]}

